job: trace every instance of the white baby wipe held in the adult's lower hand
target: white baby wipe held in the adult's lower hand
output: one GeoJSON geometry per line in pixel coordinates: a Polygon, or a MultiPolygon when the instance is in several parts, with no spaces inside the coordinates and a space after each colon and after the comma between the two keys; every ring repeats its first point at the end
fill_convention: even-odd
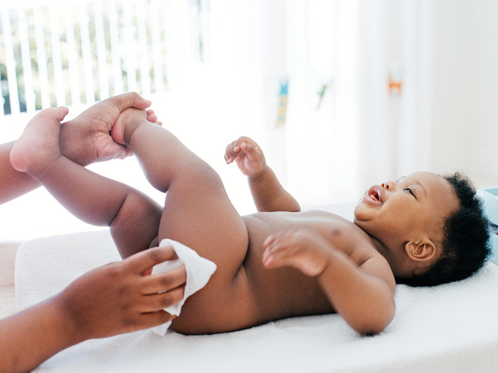
{"type": "MultiPolygon", "coordinates": [[[[194,250],[188,246],[183,245],[180,242],[173,241],[170,239],[163,239],[159,244],[159,247],[172,246],[178,259],[170,260],[163,263],[159,263],[152,268],[152,275],[157,275],[163,272],[174,270],[175,268],[185,265],[185,270],[187,272],[187,281],[185,282],[185,294],[183,299],[178,303],[164,308],[164,310],[172,315],[178,316],[180,314],[183,303],[190,295],[196,291],[202,289],[208,283],[211,276],[216,271],[216,264],[210,260],[201,257],[194,250]]],[[[152,328],[152,331],[160,336],[164,336],[171,321],[165,324],[156,326],[152,328]]]]}

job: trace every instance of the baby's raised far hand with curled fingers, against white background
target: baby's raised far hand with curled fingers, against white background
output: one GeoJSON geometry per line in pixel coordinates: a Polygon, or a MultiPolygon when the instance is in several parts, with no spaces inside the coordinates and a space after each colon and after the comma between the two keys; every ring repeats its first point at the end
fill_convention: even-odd
{"type": "Polygon", "coordinates": [[[241,172],[249,178],[257,178],[266,171],[263,152],[249,137],[240,137],[227,146],[225,151],[227,164],[236,162],[241,172]]]}

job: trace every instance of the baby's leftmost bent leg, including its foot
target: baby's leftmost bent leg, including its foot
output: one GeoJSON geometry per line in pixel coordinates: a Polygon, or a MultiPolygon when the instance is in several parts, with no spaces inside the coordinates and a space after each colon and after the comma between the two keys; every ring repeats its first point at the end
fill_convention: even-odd
{"type": "Polygon", "coordinates": [[[123,257],[148,248],[162,208],[135,189],[62,157],[59,132],[66,114],[67,108],[60,107],[33,117],[12,148],[12,166],[38,180],[81,220],[110,226],[123,257]]]}

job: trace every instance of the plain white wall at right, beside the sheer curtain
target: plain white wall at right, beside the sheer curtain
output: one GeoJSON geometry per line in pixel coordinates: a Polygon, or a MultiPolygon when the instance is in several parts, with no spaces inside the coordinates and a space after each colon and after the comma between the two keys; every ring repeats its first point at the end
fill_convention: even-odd
{"type": "Polygon", "coordinates": [[[432,171],[498,185],[498,2],[433,1],[432,171]]]}

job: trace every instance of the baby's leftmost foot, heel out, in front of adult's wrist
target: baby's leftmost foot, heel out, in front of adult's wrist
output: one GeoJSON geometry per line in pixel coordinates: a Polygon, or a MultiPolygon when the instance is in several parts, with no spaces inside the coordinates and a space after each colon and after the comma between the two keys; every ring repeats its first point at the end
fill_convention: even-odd
{"type": "Polygon", "coordinates": [[[64,106],[51,107],[40,111],[28,122],[10,152],[10,163],[14,169],[36,177],[60,157],[61,121],[68,111],[64,106]]]}

